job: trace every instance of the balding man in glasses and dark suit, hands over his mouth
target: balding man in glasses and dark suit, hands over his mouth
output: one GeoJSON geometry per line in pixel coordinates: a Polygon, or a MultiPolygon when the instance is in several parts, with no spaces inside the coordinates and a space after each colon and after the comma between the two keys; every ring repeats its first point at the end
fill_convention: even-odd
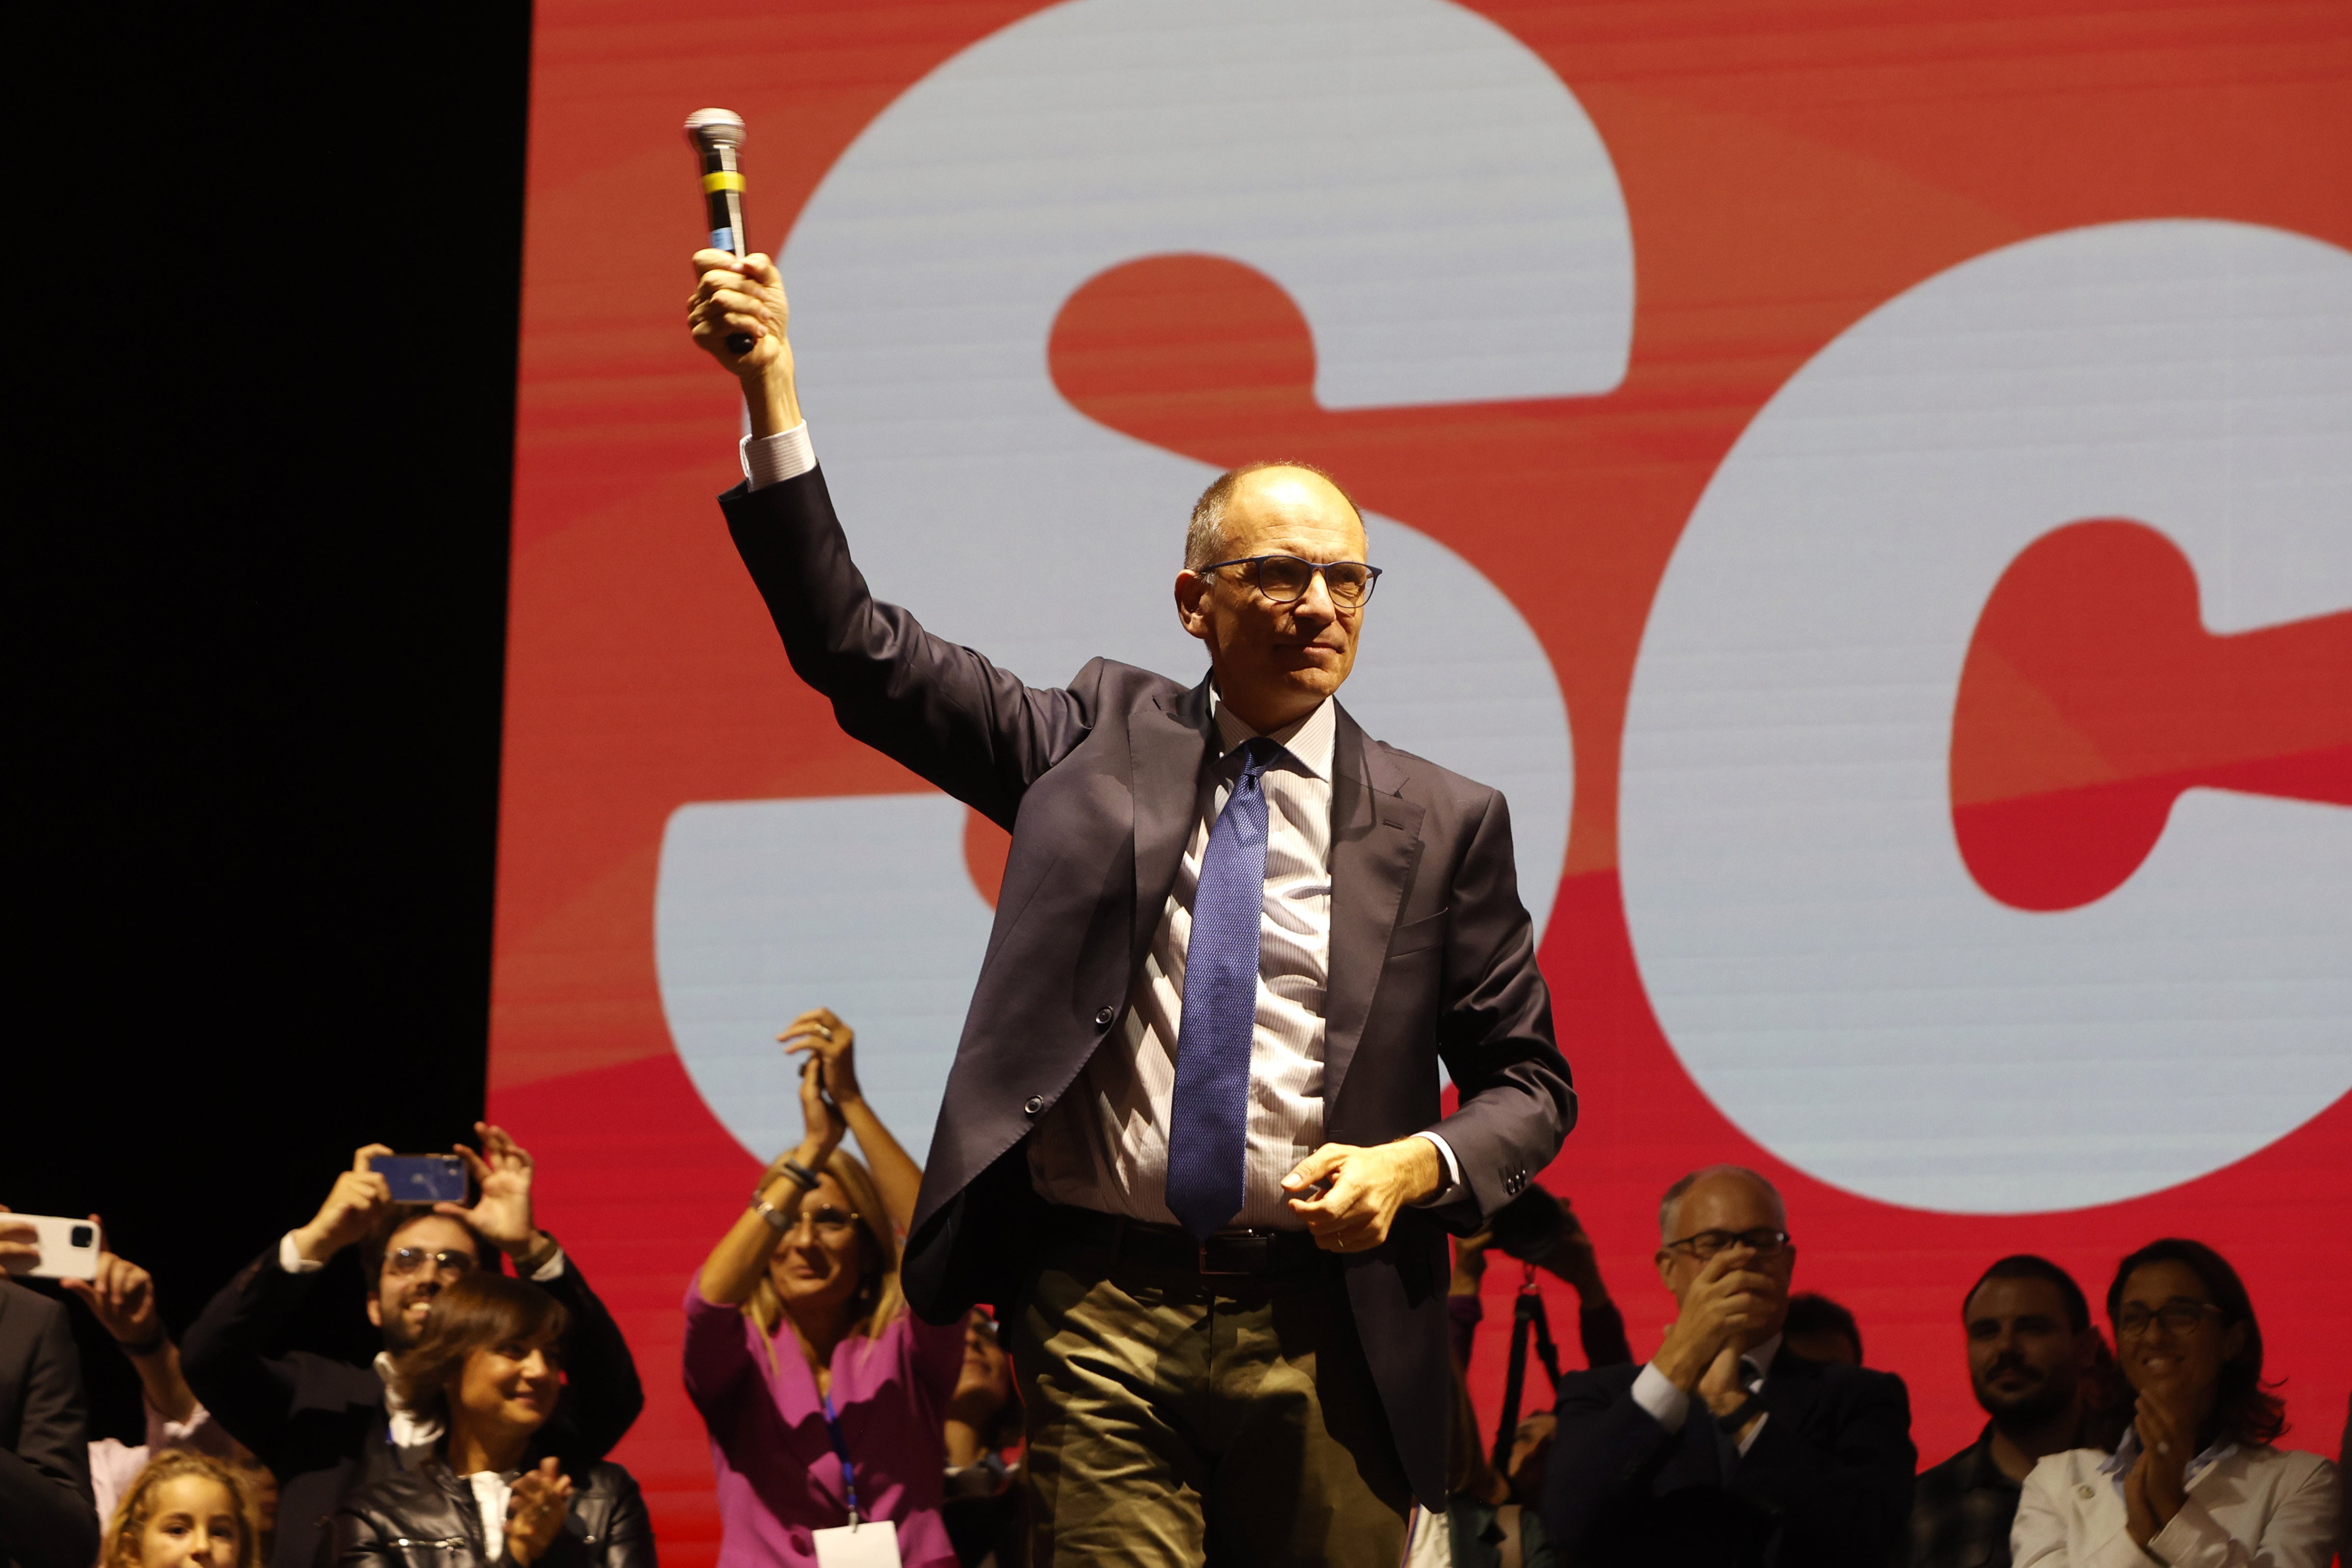
{"type": "Polygon", "coordinates": [[[1679,1307],[1649,1366],[1569,1373],[1543,1523],[1606,1568],[1889,1568],[1917,1450],[1893,1373],[1780,1345],[1797,1248],[1755,1171],[1668,1187],[1658,1276],[1679,1307]]]}

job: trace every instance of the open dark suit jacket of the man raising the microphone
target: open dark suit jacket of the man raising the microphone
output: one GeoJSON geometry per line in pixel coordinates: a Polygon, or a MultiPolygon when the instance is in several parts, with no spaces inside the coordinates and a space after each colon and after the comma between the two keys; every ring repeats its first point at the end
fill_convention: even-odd
{"type": "MultiPolygon", "coordinates": [[[[1009,827],[981,980],[948,1074],[903,1284],[953,1321],[1007,1302],[1037,1234],[1023,1140],[1110,1034],[1143,966],[1216,757],[1207,682],[1091,661],[1040,691],[877,604],[821,473],[720,498],[786,654],[842,729],[1009,827]]],[[[1552,1044],[1510,813],[1486,785],[1338,712],[1324,1128],[1374,1145],[1439,1126],[1470,1197],[1406,1211],[1343,1276],[1414,1493],[1444,1507],[1446,1251],[1550,1164],[1576,1121],[1552,1044]]]]}

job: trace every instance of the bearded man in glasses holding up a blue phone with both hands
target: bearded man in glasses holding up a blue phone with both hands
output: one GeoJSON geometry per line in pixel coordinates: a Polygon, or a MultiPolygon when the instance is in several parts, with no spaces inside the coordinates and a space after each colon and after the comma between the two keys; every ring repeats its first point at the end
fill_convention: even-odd
{"type": "Polygon", "coordinates": [[[334,1180],[318,1215],[249,1262],[188,1328],[181,1368],[198,1399],[278,1474],[278,1542],[270,1568],[310,1568],[336,1505],[362,1486],[414,1469],[433,1453],[440,1422],[388,1392],[395,1354],[416,1345],[442,1286],[477,1267],[539,1284],[572,1314],[564,1333],[562,1406],[590,1460],[602,1458],[644,1408],[637,1363],[621,1328],[555,1237],[532,1222],[532,1157],[506,1131],[475,1124],[482,1152],[459,1147],[480,1190],[461,1204],[395,1204],[369,1161],[372,1143],[334,1180]],[[310,1298],[320,1269],[362,1244],[367,1321],[383,1335],[372,1366],[296,1349],[266,1354],[310,1298]]]}

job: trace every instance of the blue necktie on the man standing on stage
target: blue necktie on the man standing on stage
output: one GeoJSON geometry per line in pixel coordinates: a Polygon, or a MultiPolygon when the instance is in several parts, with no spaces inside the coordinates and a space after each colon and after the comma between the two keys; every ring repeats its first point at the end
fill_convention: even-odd
{"type": "Polygon", "coordinates": [[[1195,1237],[1242,1213],[1249,1046],[1258,1025],[1258,922],[1265,919],[1265,764],[1282,748],[1242,745],[1242,776],[1209,830],[1192,893],[1169,1105],[1169,1213],[1195,1237]]]}

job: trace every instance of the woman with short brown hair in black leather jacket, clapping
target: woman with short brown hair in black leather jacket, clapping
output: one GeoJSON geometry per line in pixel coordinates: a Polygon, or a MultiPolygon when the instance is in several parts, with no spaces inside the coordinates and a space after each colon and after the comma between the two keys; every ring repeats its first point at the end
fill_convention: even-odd
{"type": "Polygon", "coordinates": [[[466,1274],[435,1295],[416,1345],[393,1359],[393,1392],[440,1439],[414,1469],[343,1500],[339,1568],[654,1568],[635,1479],[567,1420],[564,1316],[506,1274],[466,1274]]]}

